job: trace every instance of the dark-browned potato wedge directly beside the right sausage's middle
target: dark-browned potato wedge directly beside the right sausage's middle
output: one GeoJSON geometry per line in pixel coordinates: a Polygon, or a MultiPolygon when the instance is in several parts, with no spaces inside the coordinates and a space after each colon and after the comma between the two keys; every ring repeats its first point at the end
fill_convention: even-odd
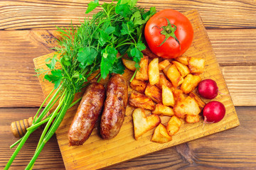
{"type": "Polygon", "coordinates": [[[154,102],[151,98],[136,91],[132,91],[132,94],[129,96],[129,105],[135,108],[145,108],[150,111],[154,110],[154,102]]]}

